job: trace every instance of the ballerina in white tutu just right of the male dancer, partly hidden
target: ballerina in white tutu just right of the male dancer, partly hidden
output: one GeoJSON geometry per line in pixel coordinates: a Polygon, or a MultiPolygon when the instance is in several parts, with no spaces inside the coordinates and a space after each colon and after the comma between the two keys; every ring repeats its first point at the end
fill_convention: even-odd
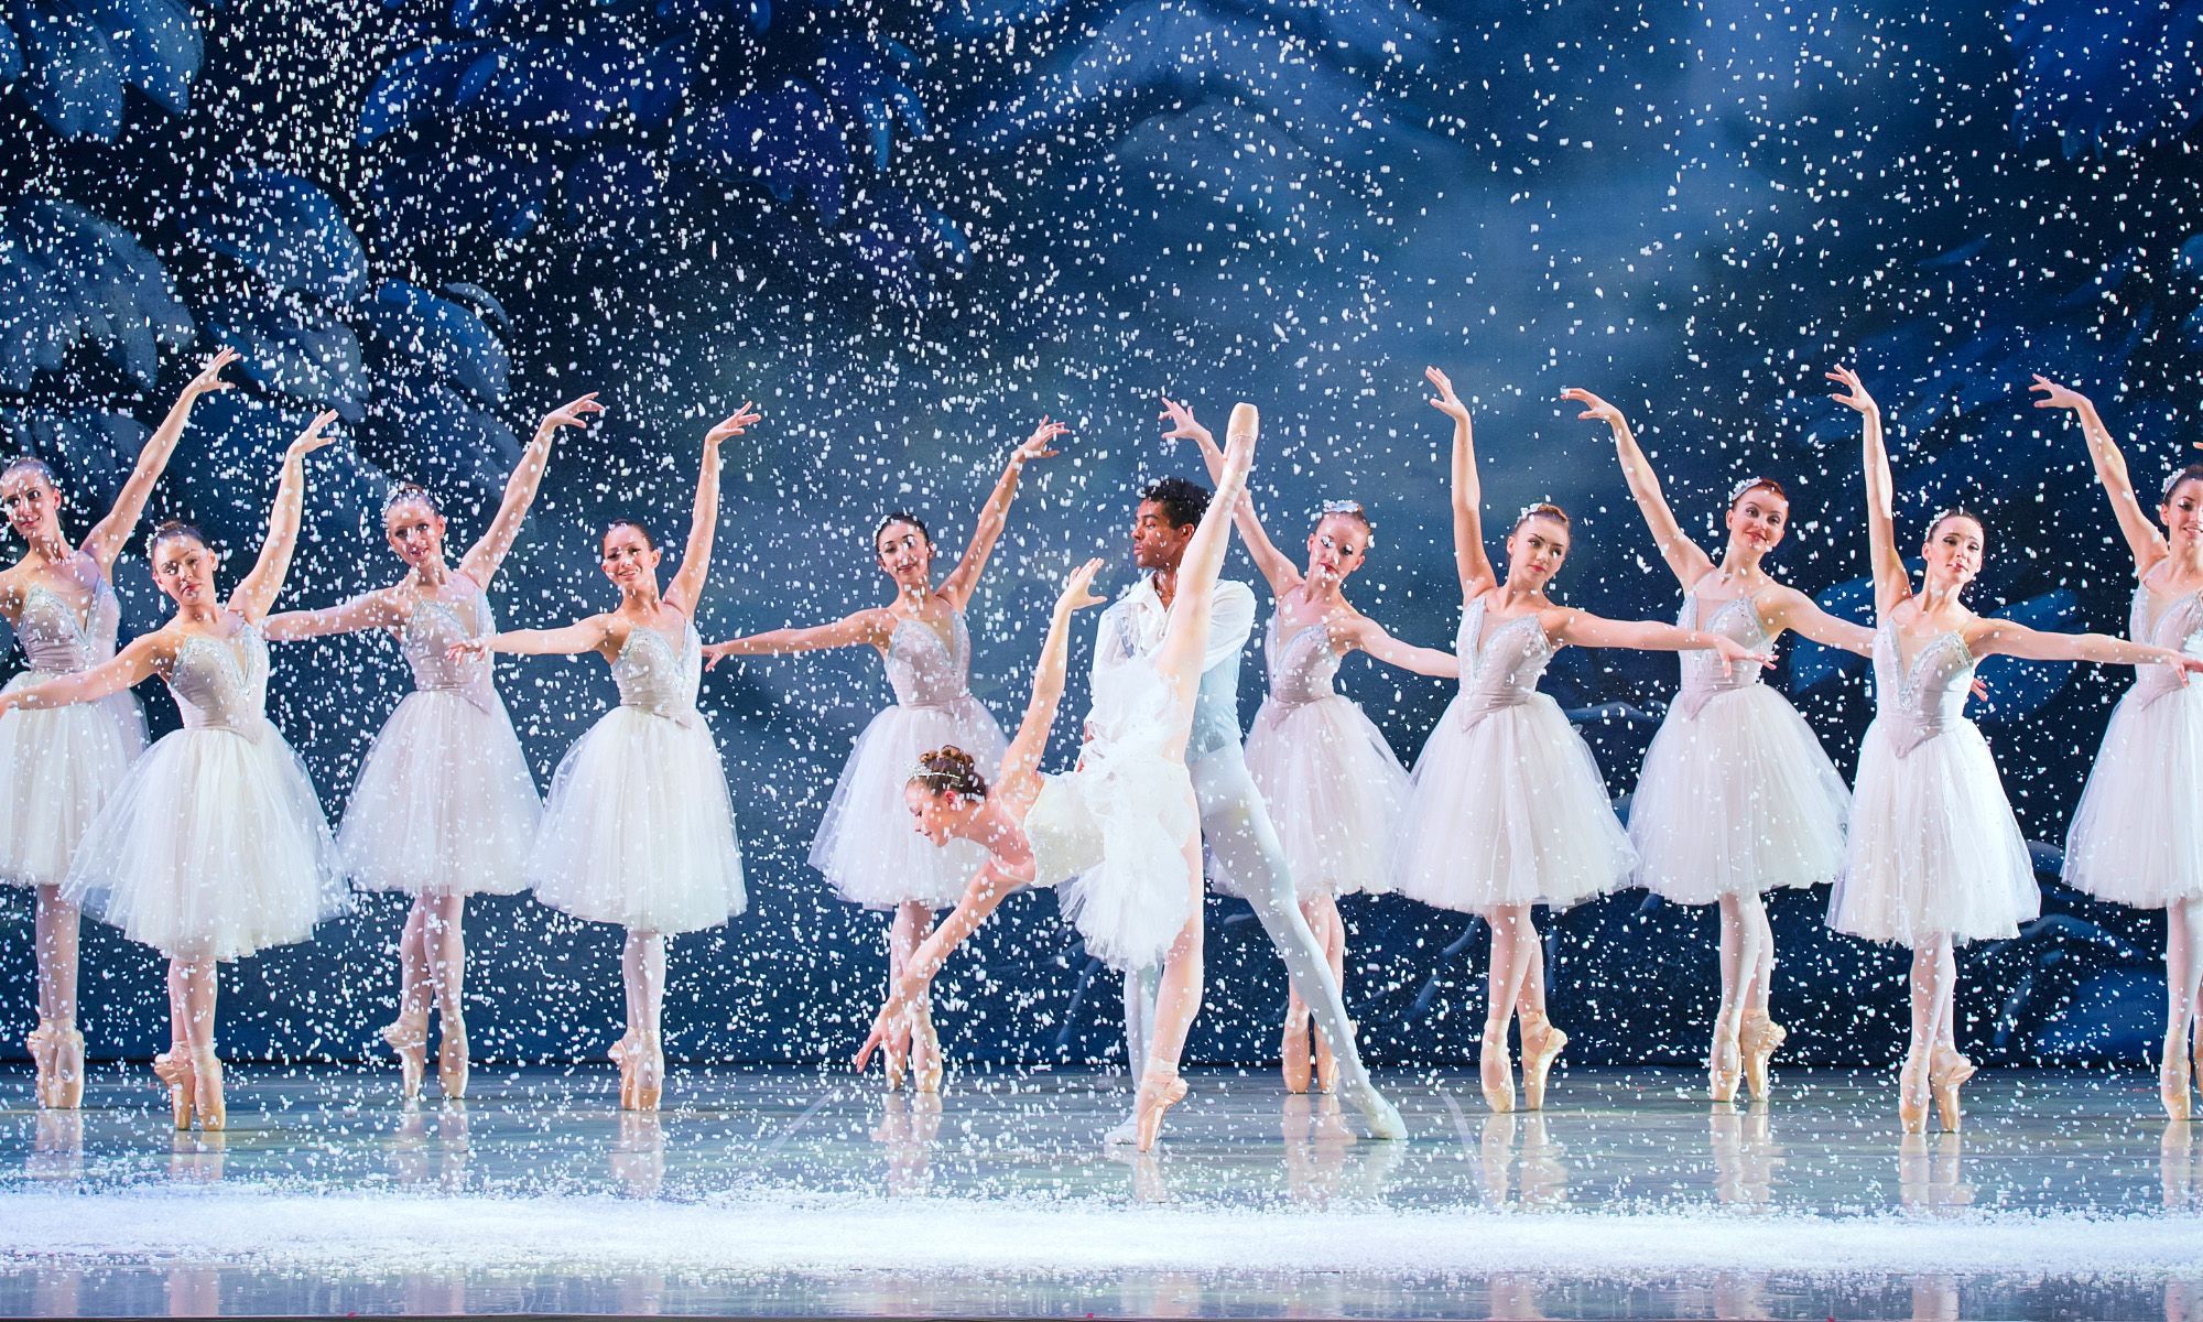
{"type": "MultiPolygon", "coordinates": [[[[1225,452],[1194,421],[1192,408],[1163,399],[1163,421],[1170,423],[1163,438],[1198,445],[1209,480],[1216,480],[1225,452]]],[[[1247,769],[1278,826],[1300,912],[1322,941],[1331,976],[1344,994],[1346,923],[1337,897],[1392,888],[1386,850],[1408,802],[1408,769],[1361,705],[1333,687],[1333,676],[1355,650],[1436,679],[1456,679],[1461,661],[1452,652],[1394,639],[1346,602],[1346,579],[1368,560],[1377,533],[1357,500],[1322,505],[1309,531],[1306,568],[1269,540],[1254,496],[1240,498],[1234,520],[1271,590],[1269,632],[1262,637],[1269,692],[1247,732],[1247,769]]],[[[1216,886],[1240,895],[1229,868],[1216,868],[1216,886]]],[[[1311,1080],[1320,1080],[1326,1093],[1337,1086],[1333,1047],[1315,1029],[1291,980],[1280,1069],[1289,1093],[1306,1093],[1311,1080]]]]}

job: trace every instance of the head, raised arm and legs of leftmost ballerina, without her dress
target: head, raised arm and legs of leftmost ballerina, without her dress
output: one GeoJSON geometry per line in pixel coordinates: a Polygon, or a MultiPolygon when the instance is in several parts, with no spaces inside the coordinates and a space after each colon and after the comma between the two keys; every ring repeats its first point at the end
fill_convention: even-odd
{"type": "MultiPolygon", "coordinates": [[[[0,571],[0,617],[9,626],[22,621],[24,604],[35,593],[48,593],[79,621],[90,619],[101,586],[115,573],[130,535],[145,513],[154,483],[167,469],[192,405],[231,388],[223,370],[238,361],[234,350],[220,350],[185,383],[167,416],[139,449],[139,460],[115,494],[106,518],[93,524],[82,542],[70,544],[62,531],[62,489],[53,469],[29,458],[0,472],[0,513],[22,538],[24,551],[0,571]]],[[[37,1029],[31,1031],[35,1097],[40,1106],[75,1108],[84,1099],[84,1033],[77,1029],[77,936],[82,914],[62,899],[59,877],[40,877],[33,950],[37,954],[37,1029]]]]}

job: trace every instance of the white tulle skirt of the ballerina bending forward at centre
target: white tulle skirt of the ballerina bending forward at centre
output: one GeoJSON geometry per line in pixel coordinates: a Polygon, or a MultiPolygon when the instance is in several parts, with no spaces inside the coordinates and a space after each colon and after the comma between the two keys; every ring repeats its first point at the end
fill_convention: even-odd
{"type": "Polygon", "coordinates": [[[1117,969],[1163,961],[1194,914],[1201,837],[1194,782],[1183,762],[1119,756],[1068,776],[1049,776],[1024,813],[1033,886],[1055,899],[1086,941],[1086,954],[1117,969]]]}

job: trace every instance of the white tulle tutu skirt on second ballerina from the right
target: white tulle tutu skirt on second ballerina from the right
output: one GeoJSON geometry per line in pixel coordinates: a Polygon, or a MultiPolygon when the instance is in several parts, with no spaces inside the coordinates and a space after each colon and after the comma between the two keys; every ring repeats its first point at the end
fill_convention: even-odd
{"type": "Polygon", "coordinates": [[[1897,756],[1875,718],[1859,747],[1844,873],[1828,925],[1868,941],[1921,945],[2018,936],[2042,912],[2027,839],[1989,743],[1972,720],[1897,756]]]}

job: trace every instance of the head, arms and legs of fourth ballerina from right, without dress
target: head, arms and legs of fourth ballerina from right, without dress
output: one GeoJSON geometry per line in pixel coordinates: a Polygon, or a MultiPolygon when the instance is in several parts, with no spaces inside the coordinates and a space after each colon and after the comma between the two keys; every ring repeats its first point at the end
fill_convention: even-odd
{"type": "MultiPolygon", "coordinates": [[[[1476,445],[1469,408],[1461,403],[1454,383],[1439,368],[1423,377],[1436,390],[1430,405],[1452,419],[1452,491],[1454,491],[1454,568],[1461,575],[1461,604],[1485,602],[1487,635],[1507,621],[1533,615],[1553,648],[1637,648],[1648,652],[1714,650],[1723,668],[1740,661],[1773,661],[1767,652],[1740,648],[1732,639],[1705,630],[1685,630],[1654,619],[1604,619],[1588,610],[1555,606],[1547,595],[1553,575],[1569,557],[1571,533],[1558,507],[1538,505],[1516,520],[1507,533],[1507,577],[1498,577],[1483,542],[1483,483],[1476,476],[1476,445]]],[[[1513,1066],[1507,1060],[1507,1027],[1520,1018],[1522,1088],[1531,1110],[1544,1104],[1547,1073],[1569,1036],[1547,1018],[1544,947],[1527,903],[1496,906],[1483,914],[1491,923],[1491,972],[1485,1000],[1485,1033],[1480,1049],[1480,1084],[1485,1104],[1513,1110],[1513,1066]]]]}

